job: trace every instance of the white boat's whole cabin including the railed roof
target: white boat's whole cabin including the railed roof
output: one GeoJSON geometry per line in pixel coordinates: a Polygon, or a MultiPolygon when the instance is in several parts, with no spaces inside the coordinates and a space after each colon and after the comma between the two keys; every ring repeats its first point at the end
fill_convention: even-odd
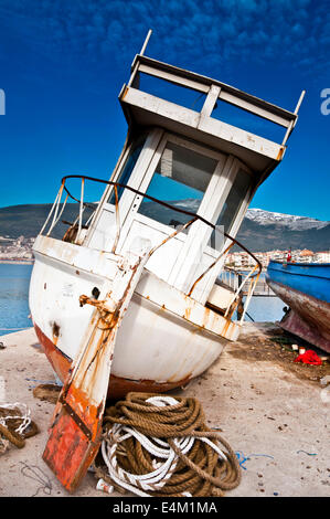
{"type": "MultiPolygon", "coordinates": [[[[297,120],[287,112],[219,81],[137,55],[119,100],[128,136],[111,176],[136,193],[107,186],[84,245],[127,251],[136,236],[157,245],[196,213],[202,219],[178,233],[150,257],[147,269],[183,293],[214,263],[235,237],[257,187],[280,162],[297,120]],[[140,89],[142,75],[153,76],[204,95],[200,112],[140,89]],[[225,100],[286,128],[281,144],[253,135],[212,117],[225,100]],[[143,193],[172,208],[143,198],[143,193]],[[120,219],[120,236],[117,233],[120,219]]],[[[205,304],[223,267],[224,257],[196,284],[191,297],[205,304]]]]}

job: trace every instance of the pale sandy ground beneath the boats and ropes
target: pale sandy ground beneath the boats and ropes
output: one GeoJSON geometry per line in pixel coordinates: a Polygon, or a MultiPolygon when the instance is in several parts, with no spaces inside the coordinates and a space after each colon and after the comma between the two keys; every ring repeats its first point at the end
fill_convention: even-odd
{"type": "MultiPolygon", "coordinates": [[[[242,483],[227,496],[330,495],[330,386],[320,383],[330,374],[329,361],[294,363],[297,353],[284,337],[274,325],[247,324],[239,342],[228,343],[206,373],[172,392],[198,398],[207,425],[221,428],[238,453],[242,483]]],[[[70,497],[42,460],[54,404],[33,396],[39,384],[55,382],[53,371],[33,329],[0,341],[0,398],[25,403],[40,428],[22,449],[10,445],[0,455],[0,496],[70,497]]],[[[109,497],[95,486],[88,473],[74,496],[109,497]]]]}

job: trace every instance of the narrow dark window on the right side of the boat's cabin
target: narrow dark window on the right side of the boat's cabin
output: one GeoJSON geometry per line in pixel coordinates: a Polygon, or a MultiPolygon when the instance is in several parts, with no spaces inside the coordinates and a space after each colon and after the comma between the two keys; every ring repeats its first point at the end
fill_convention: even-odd
{"type": "MultiPolygon", "coordinates": [[[[224,232],[230,234],[251,184],[251,174],[239,169],[216,221],[216,225],[223,225],[224,232]]],[[[211,236],[211,246],[219,248],[215,246],[214,231],[211,236]]]]}

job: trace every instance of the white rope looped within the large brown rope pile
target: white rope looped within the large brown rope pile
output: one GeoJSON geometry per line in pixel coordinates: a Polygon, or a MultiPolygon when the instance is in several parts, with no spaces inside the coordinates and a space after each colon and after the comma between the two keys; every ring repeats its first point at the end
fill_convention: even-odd
{"type": "MultiPolygon", "coordinates": [[[[163,407],[166,405],[175,405],[179,402],[172,396],[152,396],[146,402],[163,407]]],[[[173,438],[173,443],[181,451],[182,454],[187,454],[191,451],[194,445],[196,437],[194,436],[184,436],[181,438],[173,438]]],[[[221,459],[227,459],[225,454],[215,445],[212,441],[206,437],[198,437],[210,445],[219,455],[221,459]]],[[[118,484],[120,487],[129,490],[140,497],[151,497],[148,494],[148,490],[159,490],[162,488],[168,479],[172,476],[175,470],[179,456],[174,453],[171,446],[160,439],[155,438],[153,436],[147,437],[146,435],[138,432],[135,427],[129,427],[127,425],[114,424],[113,427],[108,431],[108,436],[102,442],[102,455],[103,459],[108,468],[108,474],[111,480],[118,484]],[[120,452],[120,443],[125,442],[129,437],[135,437],[140,442],[141,446],[155,458],[166,459],[164,463],[161,463],[157,459],[152,459],[152,466],[155,470],[143,475],[130,474],[127,470],[124,470],[118,466],[116,452],[118,454],[124,454],[120,452]]],[[[124,454],[125,455],[125,454],[124,454]]],[[[191,497],[189,491],[182,492],[182,496],[191,497]]]]}

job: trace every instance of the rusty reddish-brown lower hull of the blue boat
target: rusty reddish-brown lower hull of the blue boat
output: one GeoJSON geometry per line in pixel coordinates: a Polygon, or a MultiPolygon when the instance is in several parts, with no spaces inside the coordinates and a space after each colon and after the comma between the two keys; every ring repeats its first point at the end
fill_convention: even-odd
{"type": "Polygon", "coordinates": [[[268,284],[290,307],[279,322],[280,327],[330,352],[330,304],[280,283],[268,282],[268,284]]]}

